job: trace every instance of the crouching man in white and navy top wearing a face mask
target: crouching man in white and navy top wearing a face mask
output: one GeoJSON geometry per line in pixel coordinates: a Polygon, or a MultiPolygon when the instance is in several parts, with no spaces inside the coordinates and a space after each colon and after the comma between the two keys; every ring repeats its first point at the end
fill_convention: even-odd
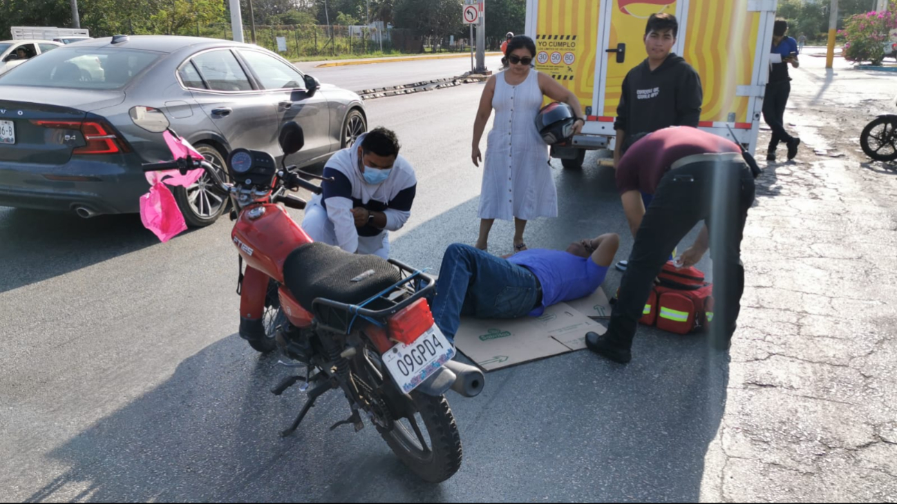
{"type": "Polygon", "coordinates": [[[302,229],[346,252],[389,256],[389,231],[411,216],[414,169],[398,155],[396,134],[378,127],[336,152],[324,167],[323,192],[311,198],[302,229]]]}

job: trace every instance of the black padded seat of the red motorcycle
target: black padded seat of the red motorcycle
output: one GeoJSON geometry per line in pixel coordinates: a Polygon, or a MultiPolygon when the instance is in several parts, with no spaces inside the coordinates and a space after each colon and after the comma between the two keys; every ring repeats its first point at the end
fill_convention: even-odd
{"type": "MultiPolygon", "coordinates": [[[[359,304],[401,280],[396,266],[379,256],[350,254],[318,242],[296,248],[283,263],[283,284],[309,311],[316,298],[359,304]]],[[[384,307],[372,303],[365,308],[384,307]]]]}

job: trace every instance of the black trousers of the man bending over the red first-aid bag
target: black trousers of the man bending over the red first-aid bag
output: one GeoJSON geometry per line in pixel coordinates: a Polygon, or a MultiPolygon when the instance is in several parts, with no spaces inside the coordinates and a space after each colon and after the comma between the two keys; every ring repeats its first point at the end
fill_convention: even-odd
{"type": "Polygon", "coordinates": [[[745,291],[741,239],[753,193],[751,170],[740,161],[700,161],[671,169],[660,179],[623,274],[620,297],[607,329],[610,339],[631,346],[645,301],[669,251],[701,221],[710,230],[713,257],[715,304],[710,335],[719,341],[732,337],[745,291]]]}

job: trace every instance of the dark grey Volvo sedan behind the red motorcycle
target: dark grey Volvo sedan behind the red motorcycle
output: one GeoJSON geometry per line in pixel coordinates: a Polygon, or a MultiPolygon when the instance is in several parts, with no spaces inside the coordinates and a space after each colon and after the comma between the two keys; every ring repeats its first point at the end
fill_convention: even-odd
{"type": "MultiPolygon", "coordinates": [[[[277,161],[280,126],[306,147],[286,160],[326,161],[367,130],[361,98],[321,84],[264,48],[228,40],[117,36],[57,48],[0,76],[0,205],[135,213],[149,188],[140,166],[170,158],[161,135],[128,110],[165,111],[171,126],[226,173],[228,152],[277,161]]],[[[208,180],[175,187],[187,223],[214,222],[228,199],[208,180]]]]}

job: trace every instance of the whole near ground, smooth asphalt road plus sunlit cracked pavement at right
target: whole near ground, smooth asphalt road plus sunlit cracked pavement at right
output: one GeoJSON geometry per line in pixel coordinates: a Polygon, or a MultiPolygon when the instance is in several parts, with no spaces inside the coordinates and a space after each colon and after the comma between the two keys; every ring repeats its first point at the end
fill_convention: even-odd
{"type": "MultiPolygon", "coordinates": [[[[349,413],[336,394],[278,438],[303,398],[295,387],[271,395],[289,371],[236,335],[227,220],[160,244],[135,215],[0,209],[0,499],[897,499],[897,276],[881,252],[893,250],[897,178],[861,165],[846,151],[858,134],[843,134],[890,105],[891,81],[843,65],[833,80],[814,65],[794,72],[787,120],[806,143],[836,139],[848,155],[805,148],[804,161],[761,179],[733,360],[701,335],[642,328],[626,367],[574,352],[489,373],[482,395],[448,396],[465,459],[438,486],[408,474],[370,426],[327,430],[349,413]]],[[[367,104],[420,181],[393,237],[403,261],[438,270],[449,243],[475,240],[469,144],[481,90],[367,104]]],[[[621,256],[631,248],[612,170],[594,161],[581,171],[555,162],[562,218],[532,222],[530,247],[615,231],[621,256]]],[[[512,225],[497,223],[492,252],[509,252],[511,238],[512,225]]],[[[619,279],[612,271],[605,289],[619,279]]]]}

